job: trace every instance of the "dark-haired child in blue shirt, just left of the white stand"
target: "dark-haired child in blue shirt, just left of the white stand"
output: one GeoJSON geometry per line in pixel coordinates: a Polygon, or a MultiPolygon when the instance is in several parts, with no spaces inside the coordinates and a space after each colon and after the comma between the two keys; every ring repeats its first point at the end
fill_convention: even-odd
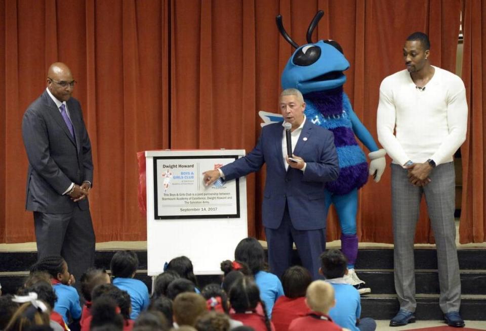
{"type": "Polygon", "coordinates": [[[142,281],[133,278],[137,268],[138,257],[132,251],[119,251],[111,258],[110,269],[113,285],[120,290],[127,291],[130,295],[131,319],[136,319],[140,312],[146,310],[150,304],[147,286],[142,281]]]}

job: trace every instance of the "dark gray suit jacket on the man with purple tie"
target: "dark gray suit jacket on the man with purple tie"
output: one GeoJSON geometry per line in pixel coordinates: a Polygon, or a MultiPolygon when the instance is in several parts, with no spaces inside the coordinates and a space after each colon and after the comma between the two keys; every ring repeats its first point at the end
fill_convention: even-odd
{"type": "Polygon", "coordinates": [[[91,143],[81,107],[74,98],[66,104],[75,138],[47,91],[24,113],[22,137],[29,160],[27,210],[57,214],[71,212],[76,206],[89,208],[88,199],[72,202],[63,195],[71,182],[93,183],[91,143]]]}

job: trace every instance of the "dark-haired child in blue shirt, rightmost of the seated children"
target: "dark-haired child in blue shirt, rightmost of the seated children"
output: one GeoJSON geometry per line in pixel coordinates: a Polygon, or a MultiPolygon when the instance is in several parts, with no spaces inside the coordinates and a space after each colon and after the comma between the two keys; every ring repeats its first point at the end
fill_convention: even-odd
{"type": "Polygon", "coordinates": [[[346,257],[339,250],[329,250],[320,255],[319,272],[334,288],[336,305],[329,311],[329,316],[341,327],[351,331],[374,331],[376,322],[372,318],[359,318],[361,300],[359,292],[346,283],[344,275],[348,273],[346,257]]]}

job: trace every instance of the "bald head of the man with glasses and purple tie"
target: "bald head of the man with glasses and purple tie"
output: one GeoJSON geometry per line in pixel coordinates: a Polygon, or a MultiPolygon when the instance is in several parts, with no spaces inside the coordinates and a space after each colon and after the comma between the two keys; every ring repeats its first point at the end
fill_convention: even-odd
{"type": "Polygon", "coordinates": [[[62,62],[51,64],[47,72],[47,87],[57,100],[68,101],[74,89],[74,78],[69,67],[62,62]]]}

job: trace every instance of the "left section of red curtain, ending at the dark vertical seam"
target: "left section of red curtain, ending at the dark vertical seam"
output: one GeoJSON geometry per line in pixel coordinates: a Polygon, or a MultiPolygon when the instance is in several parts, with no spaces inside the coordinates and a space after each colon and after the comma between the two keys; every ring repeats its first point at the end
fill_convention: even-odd
{"type": "Polygon", "coordinates": [[[0,242],[34,241],[24,211],[27,158],[21,121],[55,61],[78,81],[95,166],[97,241],[144,240],[136,152],[169,148],[168,1],[2,1],[0,242]],[[5,77],[5,78],[4,78],[5,77]]]}

